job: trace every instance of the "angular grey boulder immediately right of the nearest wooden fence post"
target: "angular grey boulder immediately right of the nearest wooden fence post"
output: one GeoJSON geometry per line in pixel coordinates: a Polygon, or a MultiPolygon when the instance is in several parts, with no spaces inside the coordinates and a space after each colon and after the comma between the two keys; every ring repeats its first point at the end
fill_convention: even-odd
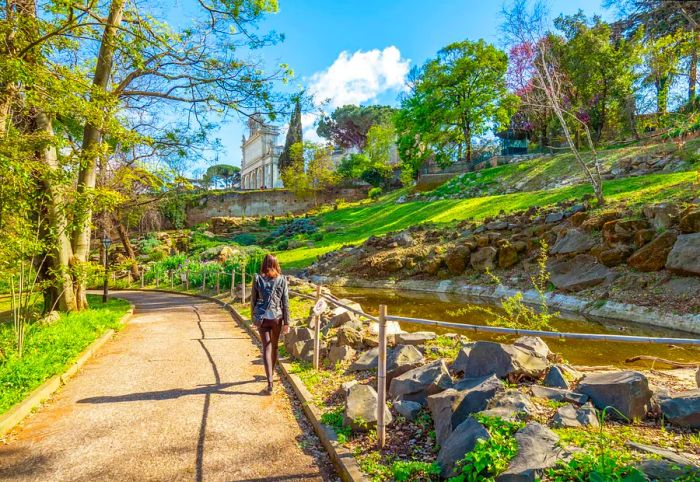
{"type": "Polygon", "coordinates": [[[411,400],[424,405],[430,395],[451,386],[447,365],[443,360],[435,360],[394,378],[389,385],[389,395],[395,400],[411,400]]]}

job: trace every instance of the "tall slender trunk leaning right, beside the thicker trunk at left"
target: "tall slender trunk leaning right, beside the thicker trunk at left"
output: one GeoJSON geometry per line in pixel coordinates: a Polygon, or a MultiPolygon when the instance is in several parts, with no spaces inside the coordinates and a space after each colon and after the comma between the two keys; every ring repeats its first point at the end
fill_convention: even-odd
{"type": "MultiPolygon", "coordinates": [[[[112,62],[115,52],[115,39],[119,25],[122,22],[124,4],[126,0],[113,0],[109,9],[109,17],[102,34],[102,42],[97,55],[97,65],[93,77],[93,89],[98,92],[105,92],[109,87],[112,77],[112,62]]],[[[97,92],[96,92],[97,93],[97,92]]],[[[99,95],[97,96],[100,97],[99,95]]],[[[95,96],[91,98],[96,102],[95,96]]],[[[105,112],[104,115],[107,115],[105,112]]],[[[100,147],[102,144],[101,122],[88,122],[83,129],[83,144],[81,148],[82,159],[80,171],[78,173],[78,197],[83,202],[83,209],[79,215],[78,228],[73,235],[73,252],[75,258],[80,263],[87,262],[90,253],[90,234],[92,222],[92,202],[90,197],[95,189],[97,178],[97,159],[102,154],[100,147]]],[[[78,309],[87,308],[87,297],[85,295],[85,280],[76,279],[76,300],[78,309]]]]}

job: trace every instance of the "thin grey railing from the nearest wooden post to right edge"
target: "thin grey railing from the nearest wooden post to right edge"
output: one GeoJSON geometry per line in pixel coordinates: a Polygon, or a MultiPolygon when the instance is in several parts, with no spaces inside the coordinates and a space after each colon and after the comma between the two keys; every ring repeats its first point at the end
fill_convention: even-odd
{"type": "Polygon", "coordinates": [[[505,328],[500,326],[484,326],[484,325],[469,325],[465,323],[455,323],[449,321],[429,320],[424,318],[410,318],[406,316],[387,316],[387,321],[398,321],[403,323],[413,323],[416,325],[426,325],[442,328],[451,328],[475,333],[501,333],[507,335],[528,335],[539,336],[542,338],[559,338],[564,340],[599,340],[611,341],[618,343],[653,343],[661,345],[698,345],[698,338],[667,338],[667,337],[652,337],[652,336],[626,336],[626,335],[608,335],[603,333],[566,333],[558,331],[541,331],[541,330],[523,330],[519,328],[505,328]]]}

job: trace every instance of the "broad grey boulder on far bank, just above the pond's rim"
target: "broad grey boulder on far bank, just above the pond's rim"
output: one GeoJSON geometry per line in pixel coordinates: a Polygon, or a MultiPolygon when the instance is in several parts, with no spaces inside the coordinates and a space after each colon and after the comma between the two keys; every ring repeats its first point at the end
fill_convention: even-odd
{"type": "Polygon", "coordinates": [[[581,291],[613,276],[612,271],[587,254],[563,261],[550,260],[547,269],[552,284],[562,291],[581,291]]]}

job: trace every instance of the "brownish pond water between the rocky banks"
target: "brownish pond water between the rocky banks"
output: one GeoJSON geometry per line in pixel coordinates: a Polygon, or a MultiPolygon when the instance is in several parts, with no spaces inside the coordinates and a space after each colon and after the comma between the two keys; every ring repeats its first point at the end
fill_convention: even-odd
{"type": "MultiPolygon", "coordinates": [[[[380,304],[385,304],[387,305],[388,313],[395,316],[426,318],[471,325],[485,325],[489,317],[489,315],[479,312],[471,312],[466,315],[454,313],[460,310],[460,308],[474,306],[474,300],[459,295],[366,288],[333,288],[333,293],[336,296],[357,301],[367,313],[373,315],[377,315],[380,304]]],[[[592,321],[584,319],[580,315],[569,315],[566,313],[562,314],[560,318],[557,318],[553,326],[560,332],[609,333],[616,335],[673,338],[697,337],[696,335],[686,332],[636,323],[592,321]]],[[[402,323],[401,327],[406,331],[430,330],[438,333],[457,332],[454,329],[436,329],[407,323],[402,323]]],[[[464,331],[462,334],[474,340],[492,340],[505,343],[511,342],[514,339],[514,337],[491,333],[464,331]]],[[[561,353],[566,360],[575,365],[615,365],[629,368],[651,366],[651,363],[644,361],[625,363],[627,358],[637,355],[656,356],[678,362],[700,363],[700,348],[691,346],[617,343],[597,340],[559,340],[556,338],[546,338],[545,342],[553,351],[561,353]]],[[[663,364],[657,364],[656,366],[658,368],[668,368],[663,364]]]]}

